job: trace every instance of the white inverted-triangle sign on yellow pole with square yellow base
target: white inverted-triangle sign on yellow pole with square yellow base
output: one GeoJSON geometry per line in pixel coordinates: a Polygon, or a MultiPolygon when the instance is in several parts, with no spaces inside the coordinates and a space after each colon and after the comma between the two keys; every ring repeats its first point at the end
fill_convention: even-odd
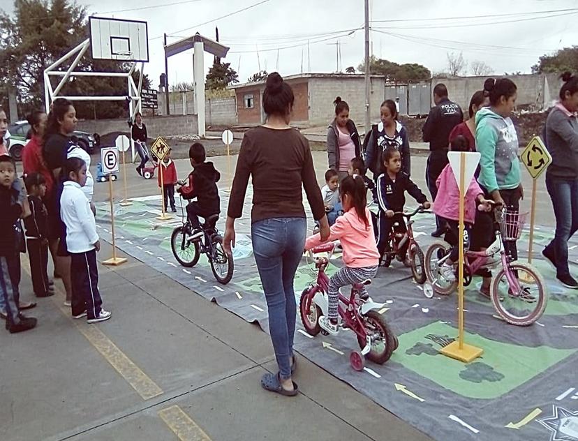
{"type": "Polygon", "coordinates": [[[480,162],[480,154],[450,151],[447,158],[459,186],[458,338],[440,352],[447,357],[469,363],[484,352],[482,348],[466,345],[464,342],[464,197],[468,192],[475,167],[480,162]]]}

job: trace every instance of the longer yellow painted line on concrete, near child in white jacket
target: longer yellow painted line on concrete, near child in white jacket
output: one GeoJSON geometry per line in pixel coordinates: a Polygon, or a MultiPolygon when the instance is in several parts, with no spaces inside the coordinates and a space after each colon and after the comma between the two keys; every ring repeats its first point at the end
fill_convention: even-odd
{"type": "MultiPolygon", "coordinates": [[[[22,260],[22,268],[30,275],[30,264],[27,260],[22,260]]],[[[57,287],[56,283],[54,284],[54,290],[58,295],[54,294],[51,299],[61,313],[74,323],[75,327],[87,338],[89,343],[101,353],[105,360],[110,363],[128,384],[131,384],[143,400],[148,400],[149,398],[163,394],[163,389],[158,387],[117,345],[112,343],[110,338],[98,329],[97,325],[87,324],[83,319],[74,320],[71,316],[71,309],[63,304],[66,295],[60,287],[57,287]]],[[[114,317],[112,317],[111,320],[114,320],[114,317]]]]}

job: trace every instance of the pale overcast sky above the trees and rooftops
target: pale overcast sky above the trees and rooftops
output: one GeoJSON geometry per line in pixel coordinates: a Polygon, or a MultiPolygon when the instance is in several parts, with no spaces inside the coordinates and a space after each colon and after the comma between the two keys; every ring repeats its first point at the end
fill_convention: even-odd
{"type": "MultiPolygon", "coordinates": [[[[0,0],[4,9],[9,10],[10,3],[0,0]]],[[[144,71],[155,88],[164,71],[163,33],[172,36],[169,42],[197,31],[214,38],[218,26],[221,42],[231,48],[225,61],[239,72],[240,82],[246,82],[259,66],[269,72],[279,70],[281,75],[334,72],[337,41],[341,70],[357,67],[364,55],[363,29],[353,31],[364,22],[363,0],[164,0],[161,7],[158,0],[77,3],[87,6],[89,14],[148,22],[150,62],[144,71]],[[125,9],[131,10],[121,12],[125,9]]],[[[530,73],[540,55],[578,44],[576,0],[373,0],[370,4],[373,54],[397,63],[421,63],[433,72],[447,68],[447,52],[463,52],[466,60],[484,61],[496,75],[530,73]],[[480,15],[486,17],[452,19],[480,15]]],[[[207,54],[205,67],[211,63],[207,54]]],[[[192,51],[171,57],[170,83],[192,80],[192,51]]]]}

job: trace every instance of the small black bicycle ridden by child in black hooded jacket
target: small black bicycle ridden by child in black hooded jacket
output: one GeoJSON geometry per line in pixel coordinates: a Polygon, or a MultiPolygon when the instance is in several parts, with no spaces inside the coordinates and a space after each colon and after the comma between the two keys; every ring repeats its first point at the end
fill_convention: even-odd
{"type": "Polygon", "coordinates": [[[183,267],[194,267],[199,261],[201,253],[205,253],[211,264],[216,280],[223,285],[230,282],[235,264],[232,255],[225,253],[223,237],[216,228],[218,214],[209,216],[201,223],[201,232],[194,231],[188,221],[186,211],[182,207],[183,225],[172,230],[170,248],[177,262],[183,267]]]}

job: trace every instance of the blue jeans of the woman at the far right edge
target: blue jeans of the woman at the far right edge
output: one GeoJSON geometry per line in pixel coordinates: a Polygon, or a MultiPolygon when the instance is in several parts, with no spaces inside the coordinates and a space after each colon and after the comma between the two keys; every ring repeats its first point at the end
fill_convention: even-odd
{"type": "Polygon", "coordinates": [[[578,230],[578,179],[561,179],[546,175],[546,188],[556,216],[556,233],[547,245],[554,251],[558,276],[570,274],[568,240],[578,230]]]}

